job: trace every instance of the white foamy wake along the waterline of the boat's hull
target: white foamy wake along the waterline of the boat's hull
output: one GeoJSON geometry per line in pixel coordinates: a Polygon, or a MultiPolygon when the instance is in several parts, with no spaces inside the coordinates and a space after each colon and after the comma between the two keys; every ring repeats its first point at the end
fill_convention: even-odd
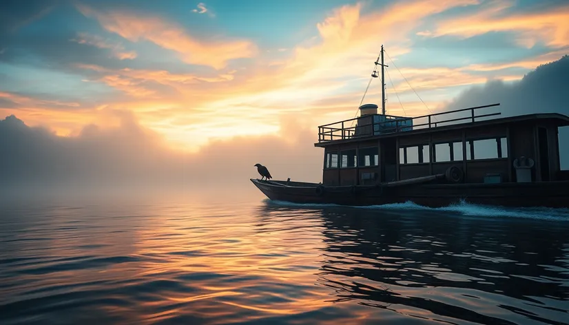
{"type": "Polygon", "coordinates": [[[264,202],[267,205],[280,205],[287,207],[299,207],[299,208],[351,208],[351,209],[369,209],[369,210],[392,210],[392,211],[444,211],[451,213],[458,213],[461,216],[476,216],[476,217],[486,217],[486,218],[528,218],[536,220],[552,220],[552,221],[568,221],[569,222],[569,209],[554,209],[548,207],[536,207],[536,208],[515,208],[515,207],[499,207],[499,206],[489,206],[489,205],[474,205],[468,203],[464,200],[455,203],[453,205],[448,205],[446,207],[424,207],[422,205],[417,205],[414,202],[408,201],[404,203],[391,203],[386,205],[370,205],[365,207],[356,206],[345,206],[345,205],[335,205],[335,204],[302,204],[293,203],[277,200],[265,199],[264,202]]]}

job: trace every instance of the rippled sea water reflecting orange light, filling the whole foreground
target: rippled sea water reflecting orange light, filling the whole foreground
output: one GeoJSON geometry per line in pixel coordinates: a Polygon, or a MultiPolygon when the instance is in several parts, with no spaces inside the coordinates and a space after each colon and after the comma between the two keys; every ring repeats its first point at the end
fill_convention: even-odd
{"type": "Polygon", "coordinates": [[[569,324],[567,210],[234,201],[3,202],[0,324],[569,324]]]}

